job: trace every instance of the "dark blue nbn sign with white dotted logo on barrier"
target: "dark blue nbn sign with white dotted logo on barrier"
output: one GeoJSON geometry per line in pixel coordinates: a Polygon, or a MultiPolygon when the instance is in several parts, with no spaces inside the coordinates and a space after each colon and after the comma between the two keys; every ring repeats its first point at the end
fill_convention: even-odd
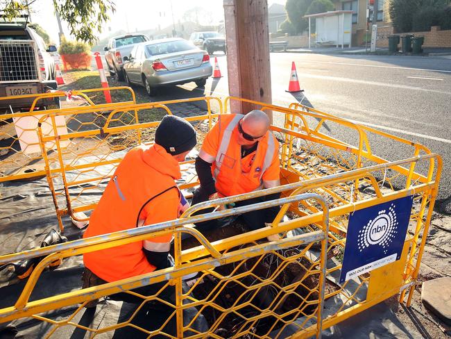
{"type": "Polygon", "coordinates": [[[412,198],[395,199],[349,215],[340,283],[399,260],[412,198]]]}

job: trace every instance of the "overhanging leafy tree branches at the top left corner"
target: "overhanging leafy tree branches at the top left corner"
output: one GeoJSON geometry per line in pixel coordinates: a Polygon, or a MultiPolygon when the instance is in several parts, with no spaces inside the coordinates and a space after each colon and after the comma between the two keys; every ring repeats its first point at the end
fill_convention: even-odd
{"type": "MultiPolygon", "coordinates": [[[[109,12],[114,13],[112,0],[52,0],[53,7],[69,26],[76,40],[94,44],[96,33],[108,22],[109,12]]],[[[8,19],[21,15],[35,0],[0,0],[0,10],[8,19]]]]}

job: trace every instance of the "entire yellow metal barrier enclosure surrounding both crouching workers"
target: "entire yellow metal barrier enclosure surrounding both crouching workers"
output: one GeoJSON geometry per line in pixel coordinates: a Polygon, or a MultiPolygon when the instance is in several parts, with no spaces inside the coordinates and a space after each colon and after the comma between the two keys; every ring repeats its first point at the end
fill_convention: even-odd
{"type": "MultiPolygon", "coordinates": [[[[194,124],[202,139],[218,117],[210,107],[212,102],[217,103],[219,99],[196,100],[207,101],[207,114],[187,119],[194,124]]],[[[158,333],[167,338],[223,338],[219,333],[226,326],[228,336],[262,338],[271,333],[271,336],[278,338],[309,338],[320,337],[322,329],[342,322],[398,293],[403,302],[405,293],[408,292],[409,306],[416,288],[416,278],[439,188],[442,168],[440,156],[431,154],[420,144],[319,111],[313,112],[300,106],[283,108],[238,98],[226,99],[224,107],[227,108],[232,100],[246,101],[262,110],[271,110],[275,117],[282,117],[282,122],[276,121],[271,129],[281,144],[281,181],[284,185],[206,201],[189,208],[180,220],[1,256],[0,264],[48,255],[33,272],[15,306],[0,310],[0,322],[31,316],[52,324],[52,328],[42,333],[42,336],[54,335],[55,338],[58,338],[59,331],[65,326],[89,331],[92,336],[111,334],[131,326],[148,336],[158,333]],[[343,132],[350,135],[352,140],[343,142],[334,135],[343,135],[343,132]],[[376,156],[372,151],[373,140],[380,139],[387,145],[395,143],[397,146],[405,146],[404,154],[410,154],[410,158],[388,160],[376,156]],[[246,206],[259,209],[281,205],[282,210],[271,227],[210,242],[189,226],[193,222],[247,211],[246,208],[232,208],[193,216],[196,210],[274,192],[282,192],[282,198],[246,206]],[[411,197],[414,202],[400,259],[339,283],[350,214],[402,197],[411,197]],[[283,222],[283,215],[289,215],[290,220],[283,222]],[[158,236],[164,230],[176,235],[175,267],[64,295],[28,301],[40,272],[56,258],[124,245],[158,236]],[[192,234],[201,246],[182,250],[180,233],[192,234]],[[274,233],[284,233],[287,237],[280,242],[261,241],[274,233]],[[262,267],[266,267],[264,272],[262,267]],[[323,276],[322,270],[325,270],[323,276]],[[182,276],[192,272],[201,272],[201,279],[185,290],[182,288],[182,276]],[[291,274],[289,281],[283,278],[287,272],[291,274]],[[144,308],[144,304],[160,300],[159,293],[148,297],[138,295],[143,300],[138,310],[130,318],[118,323],[94,329],[78,322],[87,301],[119,291],[135,295],[130,292],[131,289],[162,281],[167,281],[165,286],[173,286],[176,297],[173,301],[167,301],[173,312],[158,329],[143,328],[135,324],[134,317],[144,308]],[[262,299],[266,300],[262,295],[269,292],[272,293],[272,302],[262,304],[262,299]],[[51,314],[41,314],[77,303],[81,305],[76,306],[64,319],[54,320],[51,314]],[[324,312],[321,311],[323,305],[324,312]],[[192,307],[196,307],[196,319],[200,319],[202,314],[207,320],[207,330],[198,331],[194,321],[183,321],[184,310],[192,307]],[[167,333],[171,321],[176,324],[175,334],[167,333]]],[[[40,130],[40,145],[59,217],[94,208],[96,201],[88,199],[92,199],[92,192],[102,192],[104,183],[124,156],[124,151],[138,142],[153,140],[152,129],[158,122],[137,123],[139,119],[124,119],[129,110],[133,111],[133,116],[136,112],[138,117],[140,112],[155,107],[171,114],[167,104],[172,102],[174,101],[119,108],[110,113],[101,129],[82,124],[88,127],[62,134],[55,133],[58,131],[56,117],[64,116],[65,113],[51,113],[46,117],[53,132],[44,133],[40,130]],[[88,144],[87,140],[94,142],[88,144]],[[49,146],[52,143],[53,146],[49,146]],[[56,151],[49,152],[49,148],[56,151]]],[[[80,113],[77,121],[86,122],[81,118],[85,116],[83,114],[85,113],[80,113]]],[[[195,177],[188,179],[190,175],[189,167],[185,168],[185,181],[180,184],[180,188],[191,188],[197,184],[195,177]]]]}

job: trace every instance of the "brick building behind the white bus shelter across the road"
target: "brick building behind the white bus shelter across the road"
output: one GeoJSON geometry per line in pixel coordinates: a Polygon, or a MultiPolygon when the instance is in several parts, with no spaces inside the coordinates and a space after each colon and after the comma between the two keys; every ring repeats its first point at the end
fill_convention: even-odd
{"type": "MultiPolygon", "coordinates": [[[[374,0],[332,0],[336,10],[352,10],[352,46],[360,46],[365,43],[368,29],[368,40],[371,38],[371,22],[367,26],[368,7],[373,7],[374,0]]],[[[389,15],[390,0],[378,0],[377,3],[377,27],[391,27],[389,15]]],[[[369,11],[370,21],[373,19],[373,10],[369,11]]],[[[378,35],[380,35],[378,33],[378,35]]]]}

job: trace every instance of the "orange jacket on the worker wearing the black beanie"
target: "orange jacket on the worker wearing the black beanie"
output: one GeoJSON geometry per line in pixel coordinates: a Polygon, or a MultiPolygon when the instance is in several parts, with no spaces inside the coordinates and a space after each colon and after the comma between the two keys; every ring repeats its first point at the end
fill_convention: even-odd
{"type": "MultiPolygon", "coordinates": [[[[128,151],[90,217],[83,238],[178,217],[180,166],[158,144],[128,151]],[[150,201],[149,201],[150,200],[150,201]],[[145,222],[144,222],[145,220],[145,222]]],[[[153,272],[142,248],[169,251],[172,234],[84,254],[85,266],[105,281],[153,272]]]]}

